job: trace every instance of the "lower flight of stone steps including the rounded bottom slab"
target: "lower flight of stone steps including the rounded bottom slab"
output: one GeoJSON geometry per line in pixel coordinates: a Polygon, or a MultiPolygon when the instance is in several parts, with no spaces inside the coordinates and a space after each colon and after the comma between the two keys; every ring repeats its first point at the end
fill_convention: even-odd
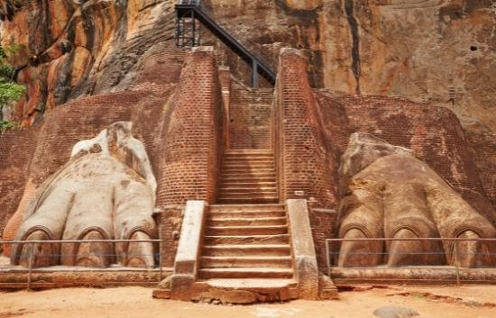
{"type": "Polygon", "coordinates": [[[284,205],[209,209],[193,298],[236,304],[298,298],[284,205]]]}

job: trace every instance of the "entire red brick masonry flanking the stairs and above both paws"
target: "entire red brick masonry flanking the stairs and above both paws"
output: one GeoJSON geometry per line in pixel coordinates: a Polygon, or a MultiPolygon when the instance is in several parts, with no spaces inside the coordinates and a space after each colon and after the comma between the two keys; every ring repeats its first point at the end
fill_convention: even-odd
{"type": "Polygon", "coordinates": [[[353,132],[369,132],[414,150],[496,223],[494,134],[464,131],[455,114],[444,108],[401,98],[336,97],[316,91],[309,85],[307,68],[298,50],[283,50],[273,107],[269,93],[262,97],[262,108],[241,107],[254,97],[234,83],[228,71],[217,71],[214,52],[185,55],[170,50],[143,63],[132,90],[80,98],[51,110],[36,126],[6,132],[0,136],[0,232],[28,179],[40,186],[67,162],[74,143],[115,121],[133,122],[133,135],[152,161],[166,267],[173,265],[186,201],[215,200],[220,154],[229,135],[231,145],[239,148],[274,148],[281,200],[308,199],[320,267],[326,261],[324,241],[335,236],[337,168],[353,132]],[[253,127],[266,129],[246,141],[243,136],[253,127]]]}

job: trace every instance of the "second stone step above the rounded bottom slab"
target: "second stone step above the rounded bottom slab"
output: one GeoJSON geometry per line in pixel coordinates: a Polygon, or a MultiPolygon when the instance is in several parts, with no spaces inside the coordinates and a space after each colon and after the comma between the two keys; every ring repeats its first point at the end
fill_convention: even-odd
{"type": "Polygon", "coordinates": [[[290,256],[204,256],[202,268],[291,268],[290,256]]]}

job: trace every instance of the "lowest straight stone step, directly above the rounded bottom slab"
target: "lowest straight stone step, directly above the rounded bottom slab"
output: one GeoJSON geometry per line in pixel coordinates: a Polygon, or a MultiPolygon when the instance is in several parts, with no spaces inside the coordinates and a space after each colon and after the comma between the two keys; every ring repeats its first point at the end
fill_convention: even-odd
{"type": "Polygon", "coordinates": [[[199,268],[200,278],[292,278],[292,268],[199,268]]]}

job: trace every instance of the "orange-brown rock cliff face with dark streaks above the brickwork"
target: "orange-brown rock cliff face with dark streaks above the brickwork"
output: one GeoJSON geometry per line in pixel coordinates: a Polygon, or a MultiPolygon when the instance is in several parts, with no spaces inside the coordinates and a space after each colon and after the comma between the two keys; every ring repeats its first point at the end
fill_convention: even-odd
{"type": "MultiPolygon", "coordinates": [[[[173,0],[2,0],[4,42],[25,45],[29,86],[17,117],[32,121],[78,95],[133,83],[143,55],[171,46],[173,0]]],[[[496,5],[492,0],[205,0],[205,10],[272,57],[308,49],[311,80],[336,95],[400,95],[496,130],[496,5]]],[[[206,43],[215,42],[211,35],[206,43]]],[[[220,59],[239,66],[225,52],[220,59]]],[[[243,68],[238,75],[243,76],[243,68]]]]}

